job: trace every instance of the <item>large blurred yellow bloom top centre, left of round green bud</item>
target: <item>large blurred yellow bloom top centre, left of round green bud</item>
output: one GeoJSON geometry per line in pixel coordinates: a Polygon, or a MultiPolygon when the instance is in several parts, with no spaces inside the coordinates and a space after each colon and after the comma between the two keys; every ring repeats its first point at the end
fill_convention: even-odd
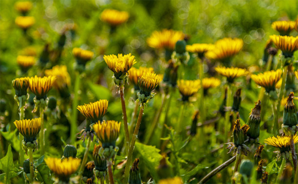
{"type": "Polygon", "coordinates": [[[149,47],[173,51],[178,40],[184,39],[182,31],[163,30],[154,31],[147,39],[149,47]]]}

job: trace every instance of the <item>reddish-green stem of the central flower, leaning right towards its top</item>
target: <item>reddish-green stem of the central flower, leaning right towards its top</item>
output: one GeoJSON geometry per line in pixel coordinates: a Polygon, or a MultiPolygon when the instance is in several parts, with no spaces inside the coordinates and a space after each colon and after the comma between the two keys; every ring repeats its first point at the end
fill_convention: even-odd
{"type": "Polygon", "coordinates": [[[130,174],[130,167],[131,167],[131,163],[132,163],[132,153],[133,153],[133,150],[134,150],[135,141],[137,139],[137,134],[138,134],[138,131],[139,131],[139,128],[140,128],[140,125],[141,125],[143,112],[144,112],[144,106],[141,106],[140,107],[140,112],[139,112],[139,115],[138,115],[138,118],[137,118],[137,122],[136,122],[136,125],[135,125],[135,128],[134,128],[134,132],[133,132],[133,135],[132,135],[132,142],[130,144],[130,149],[129,149],[128,156],[127,156],[127,162],[126,162],[126,165],[125,165],[125,181],[128,180],[128,177],[129,177],[129,174],[130,174]]]}

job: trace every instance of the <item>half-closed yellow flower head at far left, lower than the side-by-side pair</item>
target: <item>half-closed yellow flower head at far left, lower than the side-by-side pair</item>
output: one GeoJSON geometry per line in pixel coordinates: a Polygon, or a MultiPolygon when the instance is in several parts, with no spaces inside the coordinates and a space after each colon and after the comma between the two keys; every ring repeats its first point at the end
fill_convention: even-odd
{"type": "Polygon", "coordinates": [[[36,118],[32,120],[16,120],[14,125],[18,131],[24,136],[24,141],[32,142],[36,141],[36,135],[40,130],[41,119],[36,118]]]}

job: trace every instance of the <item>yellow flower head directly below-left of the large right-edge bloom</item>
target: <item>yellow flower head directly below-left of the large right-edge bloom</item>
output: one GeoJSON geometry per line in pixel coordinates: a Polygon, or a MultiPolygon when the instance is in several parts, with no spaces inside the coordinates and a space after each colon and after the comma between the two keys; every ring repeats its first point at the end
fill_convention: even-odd
{"type": "Polygon", "coordinates": [[[265,71],[257,75],[251,75],[251,79],[261,87],[264,87],[266,92],[275,91],[276,87],[280,87],[278,84],[281,78],[282,71],[278,69],[276,71],[265,71]]]}

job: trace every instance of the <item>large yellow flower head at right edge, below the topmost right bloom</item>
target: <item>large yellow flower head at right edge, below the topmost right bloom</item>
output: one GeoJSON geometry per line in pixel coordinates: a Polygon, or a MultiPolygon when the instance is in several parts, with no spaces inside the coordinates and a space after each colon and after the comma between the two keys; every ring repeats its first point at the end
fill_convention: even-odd
{"type": "Polygon", "coordinates": [[[298,36],[272,35],[270,39],[282,51],[285,58],[291,58],[294,52],[298,50],[298,36]]]}

